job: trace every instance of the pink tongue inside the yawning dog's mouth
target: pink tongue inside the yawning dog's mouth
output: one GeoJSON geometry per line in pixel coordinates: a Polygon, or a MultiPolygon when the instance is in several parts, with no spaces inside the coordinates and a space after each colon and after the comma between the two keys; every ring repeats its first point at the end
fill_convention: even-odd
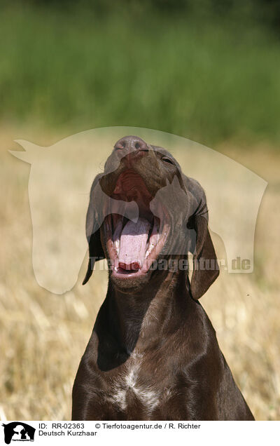
{"type": "Polygon", "coordinates": [[[120,236],[120,268],[138,270],[143,266],[150,229],[151,224],[144,218],[127,222],[120,236]]]}

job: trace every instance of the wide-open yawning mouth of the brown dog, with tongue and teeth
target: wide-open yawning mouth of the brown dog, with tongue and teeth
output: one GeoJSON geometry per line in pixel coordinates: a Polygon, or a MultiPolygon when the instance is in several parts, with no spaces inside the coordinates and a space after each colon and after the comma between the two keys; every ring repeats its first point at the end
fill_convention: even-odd
{"type": "Polygon", "coordinates": [[[118,278],[142,276],[165,245],[170,229],[167,211],[160,201],[153,201],[151,212],[154,198],[143,178],[132,169],[120,174],[111,198],[135,201],[139,208],[137,222],[123,217],[116,208],[104,220],[112,273],[118,278]]]}

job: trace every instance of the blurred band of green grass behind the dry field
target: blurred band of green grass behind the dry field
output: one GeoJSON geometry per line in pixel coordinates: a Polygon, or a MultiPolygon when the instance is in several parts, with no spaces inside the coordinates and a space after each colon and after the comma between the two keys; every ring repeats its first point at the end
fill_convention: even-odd
{"type": "Polygon", "coordinates": [[[254,20],[0,15],[0,120],[71,131],[155,128],[207,145],[280,141],[279,36],[254,20]]]}

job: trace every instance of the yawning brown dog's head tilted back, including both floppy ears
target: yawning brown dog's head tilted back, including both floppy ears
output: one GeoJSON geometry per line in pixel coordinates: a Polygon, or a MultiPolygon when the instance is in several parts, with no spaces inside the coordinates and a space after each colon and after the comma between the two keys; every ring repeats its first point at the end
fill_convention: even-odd
{"type": "Polygon", "coordinates": [[[199,299],[218,276],[200,184],[183,175],[162,147],[136,136],[116,142],[90,191],[86,222],[90,262],[109,261],[111,281],[121,290],[141,290],[162,259],[193,253],[190,294],[199,299]]]}

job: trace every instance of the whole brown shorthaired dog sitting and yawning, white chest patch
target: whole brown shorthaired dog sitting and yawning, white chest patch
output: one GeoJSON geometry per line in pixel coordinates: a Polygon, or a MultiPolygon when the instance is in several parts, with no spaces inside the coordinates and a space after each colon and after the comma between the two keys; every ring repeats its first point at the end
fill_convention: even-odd
{"type": "Polygon", "coordinates": [[[165,149],[124,137],[92,184],[86,232],[84,283],[106,257],[109,286],[72,418],[253,420],[197,301],[219,272],[200,184],[165,149]]]}

